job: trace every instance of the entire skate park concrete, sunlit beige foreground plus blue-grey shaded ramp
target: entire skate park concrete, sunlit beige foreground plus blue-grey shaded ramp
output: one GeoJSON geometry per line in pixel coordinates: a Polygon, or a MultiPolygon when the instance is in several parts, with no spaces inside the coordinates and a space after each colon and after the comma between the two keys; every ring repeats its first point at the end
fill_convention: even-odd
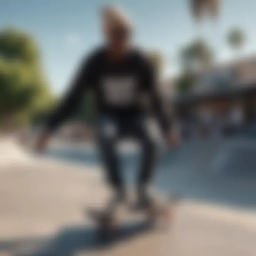
{"type": "MultiPolygon", "coordinates": [[[[255,255],[255,149],[242,138],[162,153],[154,187],[184,197],[170,226],[147,230],[127,220],[111,242],[98,239],[85,214],[110,196],[94,152],[53,147],[47,157],[5,162],[0,255],[255,255]]],[[[138,158],[121,155],[131,183],[138,158]]]]}

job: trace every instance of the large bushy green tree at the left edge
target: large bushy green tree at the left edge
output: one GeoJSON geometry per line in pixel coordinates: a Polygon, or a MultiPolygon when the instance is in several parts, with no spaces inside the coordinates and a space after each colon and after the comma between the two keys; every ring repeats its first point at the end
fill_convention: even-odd
{"type": "Polygon", "coordinates": [[[0,85],[2,128],[28,124],[52,106],[53,96],[42,73],[39,50],[27,33],[0,31],[0,85]]]}

